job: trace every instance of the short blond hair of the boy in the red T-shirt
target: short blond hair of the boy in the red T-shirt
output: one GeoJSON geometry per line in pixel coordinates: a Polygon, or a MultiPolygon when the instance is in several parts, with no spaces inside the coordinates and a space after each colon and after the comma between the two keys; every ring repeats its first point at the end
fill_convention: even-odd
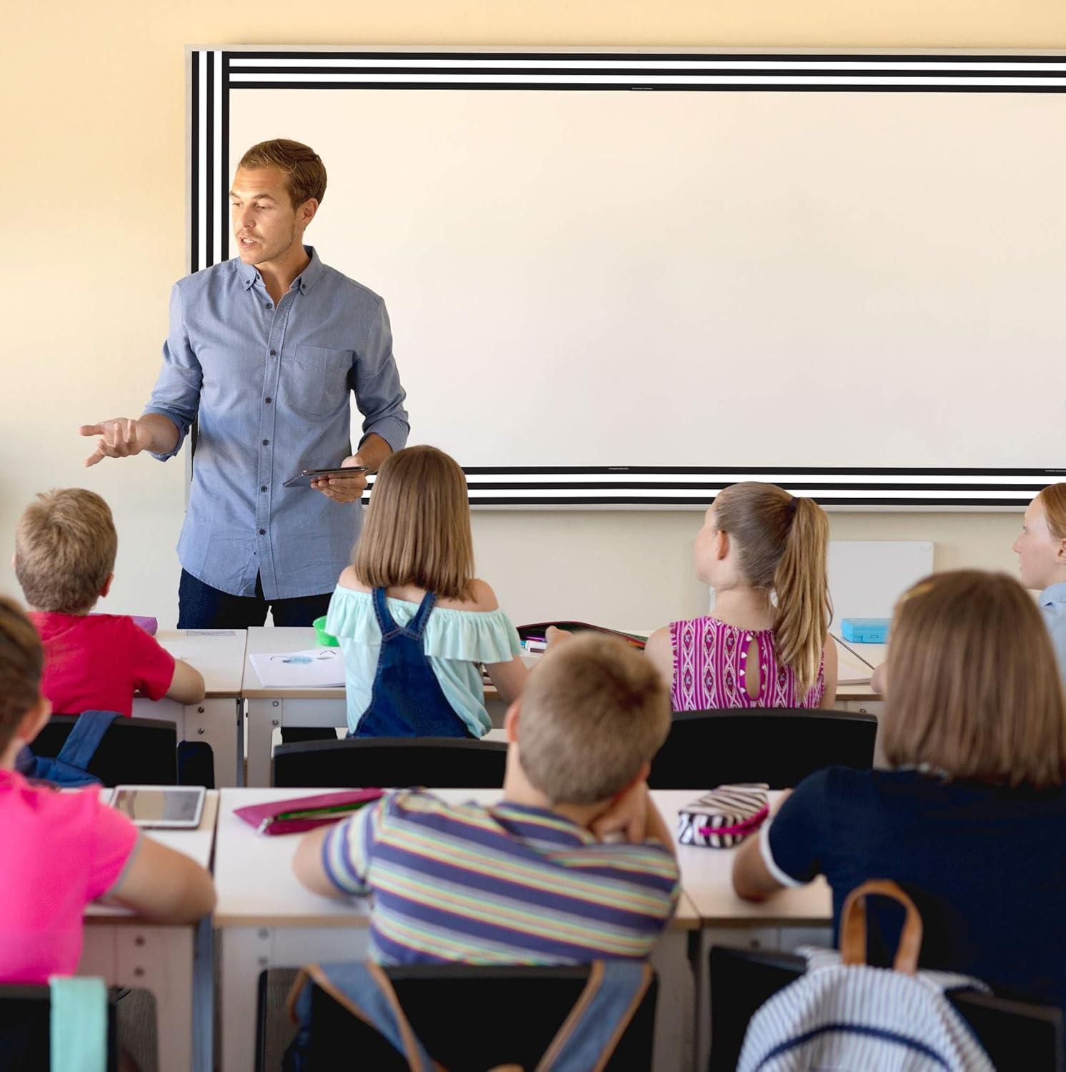
{"type": "Polygon", "coordinates": [[[115,569],[119,538],[111,510],[84,488],[43,492],[15,533],[15,576],[35,610],[81,614],[115,569]]]}

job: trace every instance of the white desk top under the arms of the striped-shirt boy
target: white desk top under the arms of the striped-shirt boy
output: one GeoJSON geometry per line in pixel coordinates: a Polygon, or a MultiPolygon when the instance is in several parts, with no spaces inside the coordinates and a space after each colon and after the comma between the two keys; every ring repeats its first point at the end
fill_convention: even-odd
{"type": "MultiPolygon", "coordinates": [[[[268,837],[234,815],[234,809],[271,800],[289,800],[330,792],[328,789],[224,789],[219,814],[214,881],[219,904],[214,925],[254,926],[363,926],[370,921],[365,902],[332,900],[305,890],[292,874],[292,855],[299,836],[268,837]]],[[[440,789],[446,800],[498,800],[498,789],[440,789]]],[[[681,898],[675,927],[694,929],[699,918],[692,903],[681,898]]]]}

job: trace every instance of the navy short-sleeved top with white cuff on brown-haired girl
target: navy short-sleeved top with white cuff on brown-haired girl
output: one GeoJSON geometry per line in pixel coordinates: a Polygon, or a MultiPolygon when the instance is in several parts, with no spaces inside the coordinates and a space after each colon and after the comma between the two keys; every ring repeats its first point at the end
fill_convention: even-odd
{"type": "MultiPolygon", "coordinates": [[[[799,784],[761,834],[787,885],[825,875],[844,897],[898,882],[921,913],[920,964],[1066,1009],[1066,791],[829,768],[799,784]]],[[[870,957],[889,963],[902,910],[869,905],[870,957]]]]}

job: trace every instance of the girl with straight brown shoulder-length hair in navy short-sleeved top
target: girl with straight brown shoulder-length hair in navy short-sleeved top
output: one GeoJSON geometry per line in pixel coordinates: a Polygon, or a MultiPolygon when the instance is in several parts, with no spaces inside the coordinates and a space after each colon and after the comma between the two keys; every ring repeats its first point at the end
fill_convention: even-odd
{"type": "MultiPolygon", "coordinates": [[[[921,964],[1066,1008],[1066,709],[1051,643],[1009,577],[937,574],[896,608],[881,732],[894,770],[799,784],[737,853],[762,900],[825,875],[834,923],[867,879],[921,913],[921,964]]],[[[884,963],[900,917],[868,909],[884,963]]]]}

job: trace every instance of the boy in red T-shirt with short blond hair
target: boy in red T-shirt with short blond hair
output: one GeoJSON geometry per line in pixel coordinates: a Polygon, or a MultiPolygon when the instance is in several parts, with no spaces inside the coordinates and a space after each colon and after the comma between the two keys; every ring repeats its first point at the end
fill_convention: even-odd
{"type": "Polygon", "coordinates": [[[115,580],[118,535],[100,495],[64,488],[37,495],[15,536],[15,576],[45,649],[42,689],[61,715],[133,714],[133,697],[204,699],[198,670],[176,659],[127,614],[90,614],[115,580]]]}

